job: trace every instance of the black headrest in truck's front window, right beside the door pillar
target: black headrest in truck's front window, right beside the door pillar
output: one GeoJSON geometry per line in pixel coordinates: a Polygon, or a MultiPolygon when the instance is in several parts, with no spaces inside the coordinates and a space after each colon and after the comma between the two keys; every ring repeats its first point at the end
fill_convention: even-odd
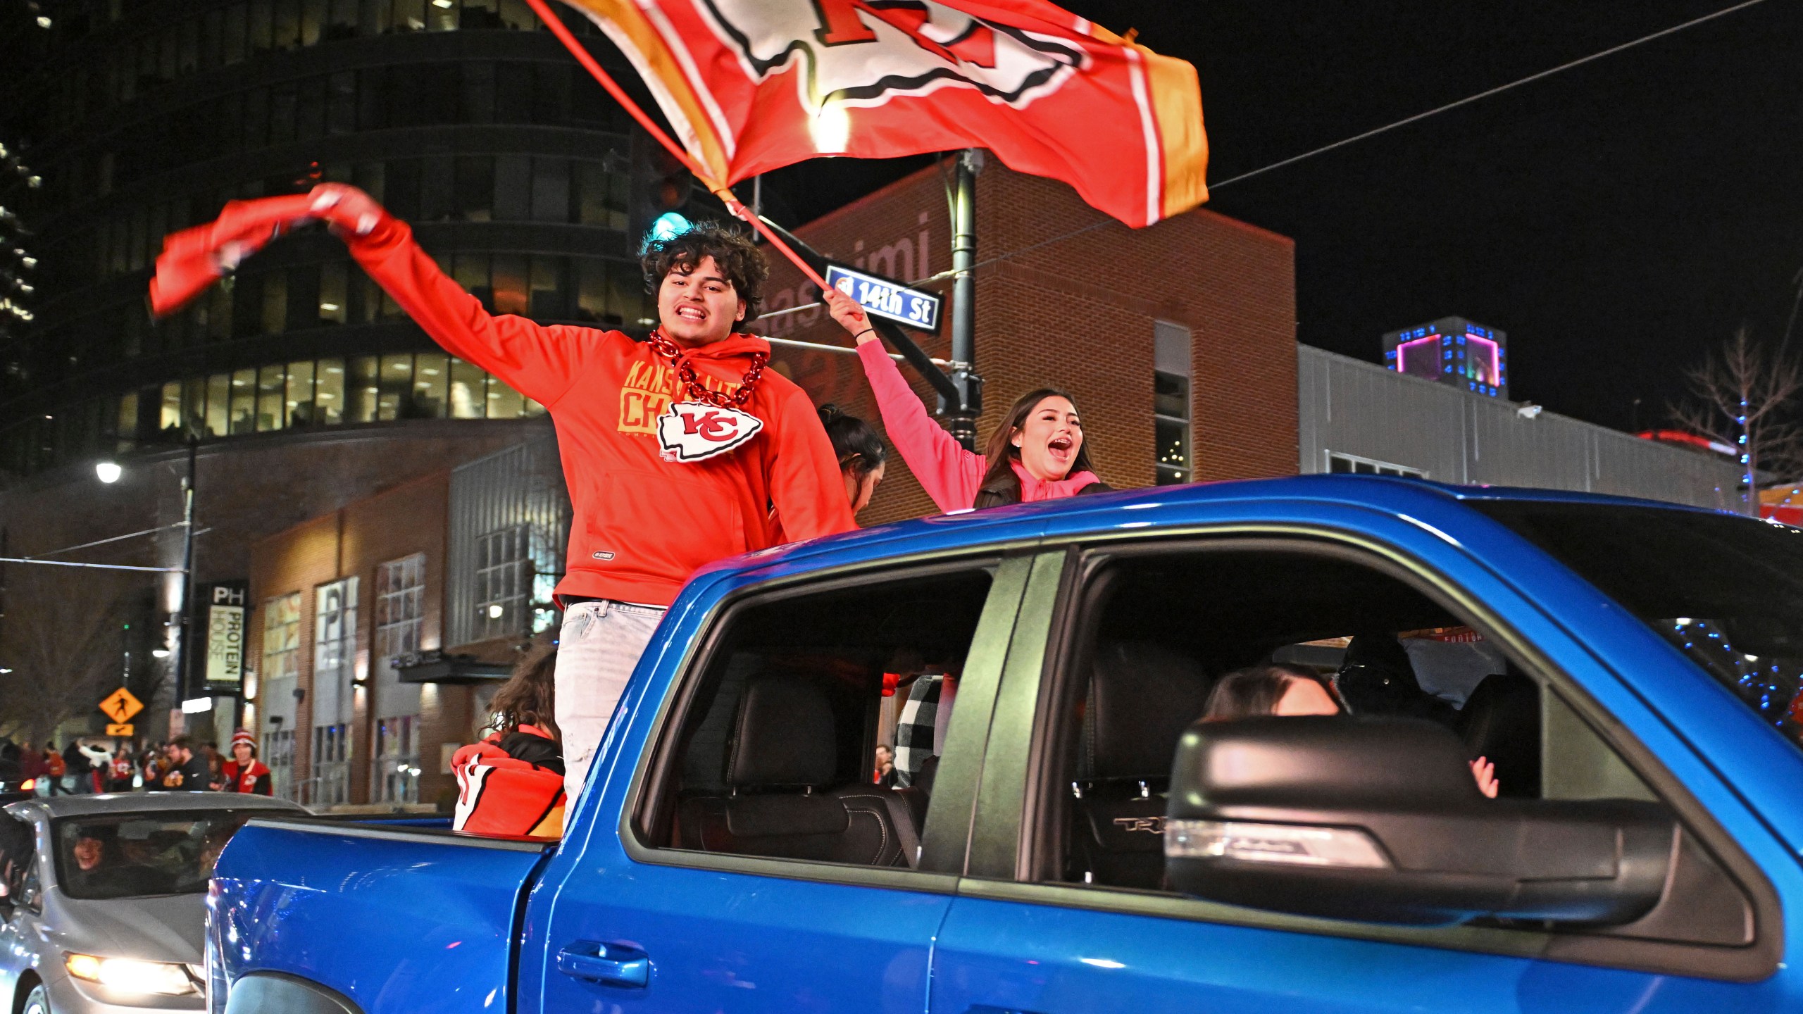
{"type": "Polygon", "coordinates": [[[1161,644],[1096,646],[1084,716],[1087,778],[1170,778],[1177,740],[1208,704],[1213,680],[1194,659],[1161,644]]]}

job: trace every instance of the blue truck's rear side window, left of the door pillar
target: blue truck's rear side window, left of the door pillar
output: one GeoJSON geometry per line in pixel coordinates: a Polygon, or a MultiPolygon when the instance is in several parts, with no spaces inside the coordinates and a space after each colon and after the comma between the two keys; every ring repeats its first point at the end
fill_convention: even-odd
{"type": "Polygon", "coordinates": [[[988,568],[734,606],[678,696],[645,844],[912,868],[988,568]]]}

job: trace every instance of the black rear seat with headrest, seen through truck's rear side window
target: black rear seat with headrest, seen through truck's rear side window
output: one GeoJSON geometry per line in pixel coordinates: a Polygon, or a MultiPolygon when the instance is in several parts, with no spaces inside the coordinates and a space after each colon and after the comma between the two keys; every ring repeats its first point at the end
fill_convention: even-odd
{"type": "Polygon", "coordinates": [[[838,769],[833,705],[808,684],[761,677],[746,684],[727,747],[727,794],[682,803],[683,848],[734,855],[903,866],[907,808],[889,790],[847,785],[838,769]],[[880,792],[880,794],[878,794],[880,792]]]}

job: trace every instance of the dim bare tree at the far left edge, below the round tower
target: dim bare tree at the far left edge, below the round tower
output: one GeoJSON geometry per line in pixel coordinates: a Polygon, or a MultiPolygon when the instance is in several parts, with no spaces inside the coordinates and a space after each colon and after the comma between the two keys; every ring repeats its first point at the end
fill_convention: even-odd
{"type": "Polygon", "coordinates": [[[124,597],[92,570],[14,565],[7,601],[0,733],[41,743],[119,686],[124,597]]]}

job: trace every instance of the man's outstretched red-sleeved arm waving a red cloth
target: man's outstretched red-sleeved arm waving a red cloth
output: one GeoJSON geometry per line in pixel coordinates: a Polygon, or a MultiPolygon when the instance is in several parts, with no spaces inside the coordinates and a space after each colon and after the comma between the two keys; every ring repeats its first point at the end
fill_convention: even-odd
{"type": "Polygon", "coordinates": [[[314,215],[332,222],[357,263],[445,352],[501,377],[546,408],[575,383],[582,361],[595,350],[595,332],[489,314],[481,300],[447,278],[413,242],[413,229],[368,193],[321,184],[310,197],[314,215]]]}

